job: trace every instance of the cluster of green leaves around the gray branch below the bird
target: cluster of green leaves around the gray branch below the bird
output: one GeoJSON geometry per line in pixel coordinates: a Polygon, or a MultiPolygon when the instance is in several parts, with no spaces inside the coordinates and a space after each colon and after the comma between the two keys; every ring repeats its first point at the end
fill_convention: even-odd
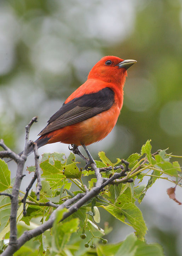
{"type": "MultiPolygon", "coordinates": [[[[62,219],[63,209],[58,212],[57,219],[51,231],[46,231],[44,235],[39,235],[34,239],[37,248],[32,250],[28,246],[32,243],[29,241],[15,255],[87,255],[92,250],[93,255],[163,255],[163,251],[159,245],[147,245],[144,242],[144,236],[147,231],[141,210],[136,206],[136,202],[142,202],[147,190],[154,184],[158,178],[163,178],[178,186],[181,186],[182,178],[180,165],[177,161],[171,162],[170,154],[166,154],[166,150],[152,154],[152,146],[147,141],[142,146],[141,154],[135,153],[129,156],[127,161],[129,164],[129,172],[126,173],[128,179],[133,178],[132,183],[121,183],[120,180],[115,181],[115,185],[108,185],[95,198],[88,201],[77,212],[70,215],[63,222],[58,223],[62,219]],[[148,177],[147,185],[141,184],[144,176],[148,177]],[[175,181],[170,177],[175,177],[175,181]],[[135,185],[136,183],[136,185],[135,185]],[[130,235],[125,241],[115,245],[106,245],[107,240],[102,238],[109,233],[112,228],[105,225],[104,229],[99,227],[100,214],[99,208],[105,209],[108,213],[119,219],[126,225],[130,225],[135,230],[135,236],[130,235]],[[81,237],[81,238],[80,238],[81,237]],[[70,239],[71,238],[71,239],[70,239]],[[84,239],[84,241],[82,240],[84,239]],[[39,243],[38,243],[39,242],[39,243]],[[100,243],[102,242],[102,243],[100,243]],[[39,244],[39,246],[38,246],[39,244]],[[95,248],[96,247],[96,248],[95,248]],[[22,254],[21,254],[22,252],[22,254]],[[109,254],[112,252],[112,254],[109,254]]],[[[109,178],[115,172],[121,172],[121,169],[115,168],[121,163],[121,159],[117,158],[116,162],[111,162],[104,152],[99,152],[100,161],[96,161],[96,165],[102,168],[102,177],[109,178]],[[110,166],[110,169],[106,169],[110,166]],[[105,168],[105,169],[104,169],[105,168]]],[[[28,196],[26,208],[27,215],[23,216],[23,206],[21,203],[22,194],[19,196],[18,209],[18,231],[22,234],[24,230],[33,229],[35,226],[44,223],[49,219],[53,208],[46,205],[46,202],[62,204],[68,198],[74,197],[78,193],[85,193],[86,187],[83,184],[83,177],[90,176],[88,182],[88,190],[91,190],[96,182],[93,177],[93,170],[81,170],[77,166],[79,162],[75,161],[75,155],[70,153],[68,158],[65,154],[45,153],[42,155],[40,167],[42,170],[42,190],[39,202],[36,201],[35,192],[32,190],[28,196]],[[72,185],[78,188],[75,190],[72,185]],[[73,187],[71,190],[71,186],[73,187]],[[24,223],[24,224],[23,224],[24,223]]],[[[121,167],[121,166],[120,166],[121,167]]],[[[29,172],[35,171],[35,166],[27,168],[29,172]]],[[[85,181],[85,179],[84,179],[85,181]]],[[[10,171],[7,164],[0,160],[0,188],[1,192],[11,193],[13,180],[10,180],[10,171]]],[[[175,198],[175,187],[169,189],[169,196],[175,198]]],[[[9,236],[9,217],[11,202],[9,197],[1,196],[0,202],[0,249],[5,246],[3,240],[9,236]]],[[[6,241],[6,240],[5,240],[6,241]]]]}

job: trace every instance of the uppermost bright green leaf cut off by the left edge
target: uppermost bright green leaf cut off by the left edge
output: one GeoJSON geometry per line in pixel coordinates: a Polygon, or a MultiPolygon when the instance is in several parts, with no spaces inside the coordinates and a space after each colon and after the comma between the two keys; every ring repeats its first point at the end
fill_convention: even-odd
{"type": "Polygon", "coordinates": [[[0,159],[0,192],[10,187],[10,170],[4,160],[0,159]]]}

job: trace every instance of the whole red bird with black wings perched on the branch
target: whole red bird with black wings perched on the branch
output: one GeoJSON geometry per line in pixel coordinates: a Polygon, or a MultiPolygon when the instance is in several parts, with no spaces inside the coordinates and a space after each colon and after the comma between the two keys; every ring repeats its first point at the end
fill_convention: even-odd
{"type": "MultiPolygon", "coordinates": [[[[91,69],[86,82],[76,89],[62,107],[49,119],[47,126],[35,141],[38,148],[45,144],[62,142],[79,145],[98,142],[114,128],[123,106],[123,87],[127,69],[136,60],[115,56],[103,57],[91,69]]],[[[32,147],[29,154],[33,151],[32,147]]],[[[92,161],[93,159],[89,159],[92,161]]],[[[90,164],[90,163],[89,163],[90,164]]]]}

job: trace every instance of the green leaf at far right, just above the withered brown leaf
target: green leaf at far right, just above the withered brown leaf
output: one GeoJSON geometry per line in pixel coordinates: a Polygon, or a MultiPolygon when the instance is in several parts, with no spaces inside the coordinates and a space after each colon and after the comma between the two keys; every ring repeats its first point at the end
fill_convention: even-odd
{"type": "Polygon", "coordinates": [[[173,166],[171,162],[164,161],[160,155],[155,155],[157,165],[168,175],[177,176],[178,172],[176,166],[173,166]]]}

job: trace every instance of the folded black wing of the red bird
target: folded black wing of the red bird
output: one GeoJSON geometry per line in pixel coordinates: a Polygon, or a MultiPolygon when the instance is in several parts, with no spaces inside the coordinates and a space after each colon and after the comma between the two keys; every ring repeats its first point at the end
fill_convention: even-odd
{"type": "Polygon", "coordinates": [[[63,103],[62,107],[49,119],[47,126],[41,130],[39,135],[91,118],[108,110],[113,103],[114,92],[109,87],[92,94],[74,98],[66,104],[63,103]]]}

